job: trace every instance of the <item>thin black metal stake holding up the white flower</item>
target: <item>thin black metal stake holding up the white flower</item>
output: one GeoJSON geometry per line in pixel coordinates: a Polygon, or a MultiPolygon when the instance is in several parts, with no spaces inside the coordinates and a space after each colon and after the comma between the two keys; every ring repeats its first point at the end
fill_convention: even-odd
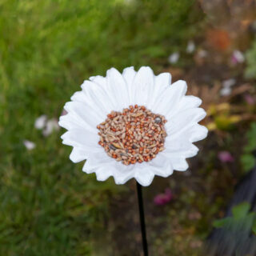
{"type": "Polygon", "coordinates": [[[144,218],[142,186],[138,182],[136,182],[136,184],[137,184],[137,194],[138,194],[139,218],[141,222],[141,231],[142,231],[143,252],[144,252],[144,256],[148,256],[149,252],[147,249],[147,242],[146,242],[146,225],[145,225],[145,218],[144,218]]]}

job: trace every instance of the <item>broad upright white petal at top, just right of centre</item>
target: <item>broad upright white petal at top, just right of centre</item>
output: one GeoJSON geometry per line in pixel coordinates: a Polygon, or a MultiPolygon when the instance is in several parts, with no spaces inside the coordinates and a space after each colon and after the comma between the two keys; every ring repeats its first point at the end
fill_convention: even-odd
{"type": "Polygon", "coordinates": [[[131,86],[131,95],[134,103],[148,106],[153,97],[154,90],[154,73],[148,66],[142,66],[135,75],[134,82],[131,86]]]}

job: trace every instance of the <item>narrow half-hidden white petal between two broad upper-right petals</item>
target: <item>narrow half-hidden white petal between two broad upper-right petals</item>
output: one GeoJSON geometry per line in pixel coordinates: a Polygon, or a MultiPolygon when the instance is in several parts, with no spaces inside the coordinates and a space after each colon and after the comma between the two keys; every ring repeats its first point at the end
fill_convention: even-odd
{"type": "Polygon", "coordinates": [[[171,84],[171,75],[170,73],[162,73],[158,74],[154,77],[154,90],[153,90],[153,96],[151,97],[150,102],[148,102],[148,107],[151,110],[154,106],[155,102],[158,100],[160,95],[164,90],[167,89],[168,86],[171,84]]]}

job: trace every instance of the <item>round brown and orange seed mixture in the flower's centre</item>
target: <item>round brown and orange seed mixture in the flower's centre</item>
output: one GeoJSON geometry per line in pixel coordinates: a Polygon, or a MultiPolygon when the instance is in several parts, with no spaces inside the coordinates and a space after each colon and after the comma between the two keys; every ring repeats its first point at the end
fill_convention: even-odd
{"type": "Polygon", "coordinates": [[[126,166],[148,162],[164,150],[166,119],[145,106],[129,106],[122,112],[112,111],[97,128],[106,154],[126,166]]]}

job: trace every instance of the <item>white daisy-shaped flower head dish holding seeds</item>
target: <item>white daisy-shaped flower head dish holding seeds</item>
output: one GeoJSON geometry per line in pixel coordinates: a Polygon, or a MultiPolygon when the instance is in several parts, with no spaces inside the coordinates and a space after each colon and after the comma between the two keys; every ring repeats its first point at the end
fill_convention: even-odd
{"type": "MultiPolygon", "coordinates": [[[[185,81],[171,84],[169,73],[154,75],[150,67],[142,66],[138,72],[134,67],[128,67],[120,74],[118,70],[111,68],[107,70],[106,77],[90,77],[90,80],[83,82],[81,87],[82,90],[74,93],[71,102],[67,102],[64,106],[67,114],[60,118],[59,125],[68,130],[62,135],[62,140],[63,144],[73,146],[70,154],[71,161],[81,162],[86,159],[82,170],[87,174],[95,173],[98,181],[105,181],[113,176],[117,184],[124,184],[130,178],[135,178],[142,186],[149,186],[154,175],[168,177],[174,170],[187,170],[186,158],[191,158],[198,153],[198,148],[193,145],[193,142],[207,136],[206,127],[198,124],[206,116],[205,110],[198,107],[202,100],[185,95],[187,87],[185,81]],[[148,112],[151,113],[149,116],[151,119],[147,118],[146,114],[141,115],[143,120],[138,119],[140,117],[137,118],[140,114],[138,112],[143,111],[143,108],[146,108],[145,111],[151,111],[148,112]],[[123,112],[124,109],[126,112],[123,112]],[[116,111],[115,113],[121,118],[118,120],[122,120],[117,125],[121,127],[120,130],[122,130],[122,123],[126,123],[126,129],[123,128],[126,134],[122,135],[122,131],[119,131],[119,137],[116,137],[120,138],[120,147],[117,146],[118,141],[114,140],[116,138],[112,137],[110,137],[112,144],[116,147],[110,146],[111,141],[109,142],[108,139],[106,139],[108,142],[99,142],[102,139],[98,134],[99,125],[102,128],[100,132],[104,136],[108,131],[112,136],[114,128],[110,130],[105,121],[111,113],[114,113],[113,111],[116,111]],[[127,111],[137,111],[138,114],[127,111]],[[135,116],[135,121],[130,121],[134,126],[135,135],[133,131],[127,130],[130,124],[127,119],[124,119],[129,119],[125,117],[126,114],[135,116]],[[162,124],[154,123],[157,116],[162,118],[162,124]],[[153,125],[150,124],[150,120],[153,120],[153,125]],[[152,132],[150,135],[146,133],[151,138],[145,135],[145,127],[142,124],[144,121],[147,126],[155,125],[155,130],[150,130],[152,132]],[[142,133],[142,138],[139,132],[142,133]],[[160,138],[161,134],[165,134],[164,137],[160,138]],[[128,146],[121,143],[121,137],[125,138],[125,136],[130,138],[127,141],[128,144],[134,142],[139,148],[137,149],[133,144],[133,147],[129,147],[128,150],[128,146]],[[140,139],[138,144],[134,138],[140,139]],[[141,141],[142,144],[149,142],[150,149],[140,145],[141,141]],[[154,142],[157,142],[158,149],[153,151],[158,154],[146,153],[154,149],[154,142]],[[106,152],[107,150],[110,152],[106,152]],[[122,154],[124,150],[127,155],[122,154]],[[140,155],[138,152],[143,153],[140,155]],[[110,154],[114,157],[110,157],[110,154]],[[127,157],[128,160],[123,160],[127,157]],[[118,158],[119,161],[117,161],[118,158]]],[[[108,121],[110,125],[116,122],[113,117],[108,118],[108,121]]]]}

